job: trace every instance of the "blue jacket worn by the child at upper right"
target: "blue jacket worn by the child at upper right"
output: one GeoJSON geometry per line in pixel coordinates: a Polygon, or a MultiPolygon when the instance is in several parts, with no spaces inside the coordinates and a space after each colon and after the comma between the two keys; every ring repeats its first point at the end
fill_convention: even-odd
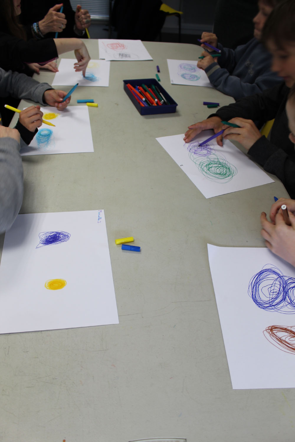
{"type": "Polygon", "coordinates": [[[235,100],[254,95],[279,84],[282,79],[271,72],[271,55],[264,46],[252,38],[235,50],[223,48],[218,63],[211,63],[205,72],[210,83],[235,100]]]}

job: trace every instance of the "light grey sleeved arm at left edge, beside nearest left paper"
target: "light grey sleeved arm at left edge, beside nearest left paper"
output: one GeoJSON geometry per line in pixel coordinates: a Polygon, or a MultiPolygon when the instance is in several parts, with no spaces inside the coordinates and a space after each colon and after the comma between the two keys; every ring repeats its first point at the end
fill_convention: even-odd
{"type": "Polygon", "coordinates": [[[23,164],[19,132],[0,126],[0,233],[8,230],[23,201],[23,164]]]}

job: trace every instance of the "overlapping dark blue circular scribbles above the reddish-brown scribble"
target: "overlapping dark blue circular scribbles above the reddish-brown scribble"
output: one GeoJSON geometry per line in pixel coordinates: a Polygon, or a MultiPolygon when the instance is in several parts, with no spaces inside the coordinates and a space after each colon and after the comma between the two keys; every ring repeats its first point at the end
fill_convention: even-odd
{"type": "Polygon", "coordinates": [[[251,278],[248,294],[260,309],[285,314],[295,313],[295,278],[266,264],[251,278]]]}

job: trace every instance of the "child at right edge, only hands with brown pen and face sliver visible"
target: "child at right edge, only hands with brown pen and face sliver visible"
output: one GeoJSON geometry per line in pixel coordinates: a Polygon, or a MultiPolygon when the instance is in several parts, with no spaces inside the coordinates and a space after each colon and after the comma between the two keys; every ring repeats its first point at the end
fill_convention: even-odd
{"type": "MultiPolygon", "coordinates": [[[[291,88],[286,104],[286,112],[291,133],[289,138],[295,143],[295,85],[291,88]]],[[[276,255],[285,259],[295,267],[295,200],[280,198],[271,207],[269,217],[261,213],[261,235],[264,237],[265,245],[276,255]],[[284,221],[280,207],[285,204],[288,209],[291,226],[284,221]]]]}

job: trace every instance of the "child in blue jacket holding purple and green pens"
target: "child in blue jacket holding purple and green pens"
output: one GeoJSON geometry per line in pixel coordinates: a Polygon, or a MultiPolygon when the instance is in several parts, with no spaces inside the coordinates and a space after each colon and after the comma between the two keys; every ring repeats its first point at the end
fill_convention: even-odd
{"type": "Polygon", "coordinates": [[[221,50],[220,57],[211,57],[213,51],[205,44],[203,60],[198,68],[203,69],[210,83],[226,95],[239,99],[271,88],[282,80],[270,69],[271,56],[261,43],[261,33],[268,15],[280,0],[259,0],[258,14],[254,17],[254,37],[235,50],[223,48],[211,32],[203,32],[201,42],[221,50]],[[208,51],[208,52],[207,52],[208,51]]]}

